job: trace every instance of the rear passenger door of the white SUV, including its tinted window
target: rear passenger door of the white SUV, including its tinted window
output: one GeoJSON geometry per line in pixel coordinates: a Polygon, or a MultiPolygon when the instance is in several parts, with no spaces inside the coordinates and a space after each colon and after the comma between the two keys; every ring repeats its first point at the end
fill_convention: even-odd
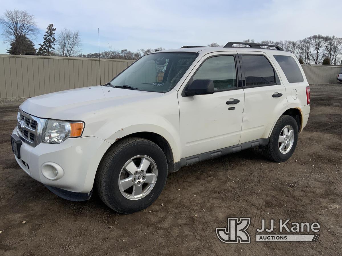
{"type": "Polygon", "coordinates": [[[238,52],[245,93],[240,143],[268,138],[288,105],[285,86],[263,52],[238,52]]]}

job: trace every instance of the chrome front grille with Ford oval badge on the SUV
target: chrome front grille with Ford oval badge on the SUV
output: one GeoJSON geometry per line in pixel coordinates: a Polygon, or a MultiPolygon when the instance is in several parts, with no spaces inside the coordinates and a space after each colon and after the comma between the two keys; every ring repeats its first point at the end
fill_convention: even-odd
{"type": "Polygon", "coordinates": [[[41,143],[41,132],[46,119],[32,116],[19,109],[17,121],[17,132],[23,142],[33,147],[41,143]]]}

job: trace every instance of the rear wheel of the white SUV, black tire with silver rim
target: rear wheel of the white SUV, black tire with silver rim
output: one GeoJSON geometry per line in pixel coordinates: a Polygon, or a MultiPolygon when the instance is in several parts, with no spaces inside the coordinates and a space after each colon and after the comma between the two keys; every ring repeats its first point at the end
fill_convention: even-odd
{"type": "MultiPolygon", "coordinates": [[[[269,138],[269,142],[266,145],[265,149],[263,150],[264,155],[275,162],[284,162],[288,160],[296,146],[297,146],[297,141],[298,141],[298,125],[296,120],[292,116],[288,115],[282,115],[278,119],[277,123],[275,124],[271,137],[269,138]],[[291,144],[291,141],[288,142],[288,145],[291,144],[291,147],[289,147],[288,150],[286,148],[283,149],[283,153],[280,150],[280,146],[283,145],[282,142],[278,142],[280,139],[280,136],[284,137],[284,131],[283,129],[286,129],[289,132],[290,129],[292,128],[293,130],[293,142],[291,144]]],[[[287,145],[286,145],[287,146],[287,145]]]]}

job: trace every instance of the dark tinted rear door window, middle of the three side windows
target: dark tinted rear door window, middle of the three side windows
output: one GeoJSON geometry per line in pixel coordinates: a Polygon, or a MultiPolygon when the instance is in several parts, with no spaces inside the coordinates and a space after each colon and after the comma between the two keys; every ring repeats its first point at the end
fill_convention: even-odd
{"type": "Polygon", "coordinates": [[[276,76],[274,69],[263,55],[242,55],[245,69],[246,86],[274,85],[276,76]]]}

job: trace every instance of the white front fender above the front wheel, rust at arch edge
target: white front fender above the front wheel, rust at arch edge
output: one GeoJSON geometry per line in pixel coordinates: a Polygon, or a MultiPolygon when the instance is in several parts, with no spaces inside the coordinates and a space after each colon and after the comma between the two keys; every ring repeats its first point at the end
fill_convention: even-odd
{"type": "Polygon", "coordinates": [[[86,113],[84,121],[82,136],[95,136],[110,144],[136,132],[157,133],[169,143],[174,161],[180,160],[179,105],[175,90],[153,100],[136,100],[86,113]]]}

